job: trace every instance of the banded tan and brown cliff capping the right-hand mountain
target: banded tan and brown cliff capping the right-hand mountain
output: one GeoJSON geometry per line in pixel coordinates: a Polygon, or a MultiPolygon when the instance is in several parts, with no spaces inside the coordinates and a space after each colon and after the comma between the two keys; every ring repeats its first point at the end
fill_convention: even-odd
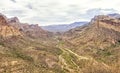
{"type": "Polygon", "coordinates": [[[120,19],[114,18],[111,16],[99,15],[92,19],[92,24],[95,24],[97,27],[104,27],[107,29],[113,29],[120,32],[120,19]]]}

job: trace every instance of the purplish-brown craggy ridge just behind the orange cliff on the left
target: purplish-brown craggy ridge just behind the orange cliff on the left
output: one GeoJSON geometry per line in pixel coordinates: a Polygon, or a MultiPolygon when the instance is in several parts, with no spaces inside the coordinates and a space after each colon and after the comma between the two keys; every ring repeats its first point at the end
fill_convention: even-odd
{"type": "Polygon", "coordinates": [[[24,35],[27,35],[31,38],[43,38],[52,36],[51,32],[43,30],[38,24],[27,24],[19,22],[17,17],[8,19],[11,26],[19,29],[20,32],[23,32],[24,35]]]}

